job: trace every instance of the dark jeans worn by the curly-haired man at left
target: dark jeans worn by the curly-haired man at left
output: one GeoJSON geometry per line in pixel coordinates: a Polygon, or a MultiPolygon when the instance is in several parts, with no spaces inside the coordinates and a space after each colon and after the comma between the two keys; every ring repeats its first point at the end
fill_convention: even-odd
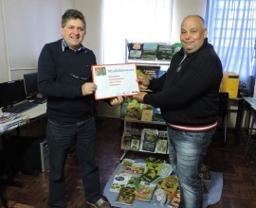
{"type": "Polygon", "coordinates": [[[88,117],[74,124],[48,120],[46,140],[49,147],[49,199],[48,207],[65,207],[64,165],[69,148],[76,143],[82,171],[85,197],[90,202],[101,198],[99,168],[95,163],[95,118],[88,117]]]}

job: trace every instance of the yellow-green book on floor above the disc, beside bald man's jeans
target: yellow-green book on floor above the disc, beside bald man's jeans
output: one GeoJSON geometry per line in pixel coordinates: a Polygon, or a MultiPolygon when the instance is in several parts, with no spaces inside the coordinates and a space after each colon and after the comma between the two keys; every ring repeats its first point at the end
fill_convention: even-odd
{"type": "Polygon", "coordinates": [[[162,188],[168,199],[172,199],[174,192],[178,187],[178,180],[175,176],[168,176],[157,182],[157,187],[162,188]]]}

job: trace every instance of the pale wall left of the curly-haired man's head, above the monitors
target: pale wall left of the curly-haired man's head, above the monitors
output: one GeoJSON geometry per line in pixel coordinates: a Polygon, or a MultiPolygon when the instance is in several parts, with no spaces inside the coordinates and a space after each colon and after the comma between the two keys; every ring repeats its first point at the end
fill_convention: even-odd
{"type": "Polygon", "coordinates": [[[0,6],[0,73],[1,81],[8,81],[37,70],[42,47],[61,38],[61,16],[74,1],[2,0],[0,6]]]}

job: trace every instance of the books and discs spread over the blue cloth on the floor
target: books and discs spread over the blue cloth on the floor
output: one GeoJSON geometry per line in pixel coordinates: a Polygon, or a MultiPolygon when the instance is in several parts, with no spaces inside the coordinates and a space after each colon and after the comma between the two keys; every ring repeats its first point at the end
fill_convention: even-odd
{"type": "MultiPolygon", "coordinates": [[[[202,166],[202,170],[202,179],[206,177],[210,180],[207,165],[202,166]]],[[[115,173],[109,191],[117,193],[115,201],[120,205],[132,205],[138,200],[178,208],[180,202],[178,178],[172,165],[155,157],[142,162],[125,158],[115,173]],[[163,194],[156,196],[159,190],[163,194]]]]}

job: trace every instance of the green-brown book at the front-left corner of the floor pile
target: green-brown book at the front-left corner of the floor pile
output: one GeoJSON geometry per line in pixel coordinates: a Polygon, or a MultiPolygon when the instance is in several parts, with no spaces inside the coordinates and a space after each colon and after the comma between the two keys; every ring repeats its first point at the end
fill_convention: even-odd
{"type": "Polygon", "coordinates": [[[121,187],[116,202],[126,205],[132,205],[135,201],[135,197],[135,188],[121,187]]]}

